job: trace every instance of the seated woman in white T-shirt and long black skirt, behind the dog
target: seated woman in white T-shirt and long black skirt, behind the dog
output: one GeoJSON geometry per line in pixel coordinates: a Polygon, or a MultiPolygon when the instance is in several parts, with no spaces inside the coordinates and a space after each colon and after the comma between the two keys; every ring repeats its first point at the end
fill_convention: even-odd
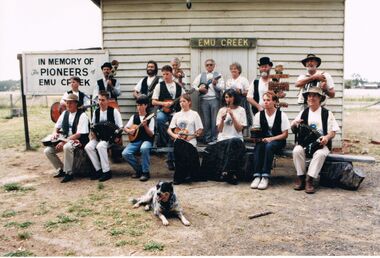
{"type": "Polygon", "coordinates": [[[184,94],[179,100],[181,111],[174,114],[168,134],[174,139],[174,184],[202,180],[200,176],[197,139],[203,132],[199,114],[191,110],[191,97],[184,94]]]}

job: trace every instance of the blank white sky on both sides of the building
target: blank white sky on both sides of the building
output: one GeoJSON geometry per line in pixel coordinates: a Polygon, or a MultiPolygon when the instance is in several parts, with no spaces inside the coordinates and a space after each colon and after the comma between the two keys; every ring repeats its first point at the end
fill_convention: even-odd
{"type": "MultiPolygon", "coordinates": [[[[380,81],[379,10],[379,0],[346,0],[346,79],[380,81]]],[[[20,78],[18,53],[101,46],[101,12],[90,0],[0,0],[0,80],[20,78]]]]}

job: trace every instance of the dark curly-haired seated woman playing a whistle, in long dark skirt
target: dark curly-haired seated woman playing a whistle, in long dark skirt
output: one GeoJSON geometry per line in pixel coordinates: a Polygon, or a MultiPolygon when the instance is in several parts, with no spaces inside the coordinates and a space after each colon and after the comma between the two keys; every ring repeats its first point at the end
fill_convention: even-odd
{"type": "Polygon", "coordinates": [[[247,126],[244,108],[239,106],[239,95],[233,90],[223,94],[223,106],[219,109],[216,126],[218,140],[207,146],[202,160],[202,173],[211,180],[223,180],[237,184],[237,174],[241,171],[245,145],[242,131],[247,126]]]}

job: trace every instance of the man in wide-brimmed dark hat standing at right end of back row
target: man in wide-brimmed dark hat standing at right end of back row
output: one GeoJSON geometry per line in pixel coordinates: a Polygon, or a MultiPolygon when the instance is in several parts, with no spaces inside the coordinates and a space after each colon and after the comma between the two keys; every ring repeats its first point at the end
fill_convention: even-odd
{"type": "MultiPolygon", "coordinates": [[[[330,74],[318,70],[321,65],[321,58],[314,54],[308,54],[305,59],[301,60],[301,63],[306,67],[307,73],[301,74],[295,86],[300,88],[300,94],[298,95],[298,104],[301,105],[301,110],[307,107],[307,100],[303,97],[303,93],[308,91],[311,87],[320,87],[324,96],[329,98],[335,97],[334,81],[330,74]]],[[[322,106],[326,104],[322,101],[322,106]]]]}

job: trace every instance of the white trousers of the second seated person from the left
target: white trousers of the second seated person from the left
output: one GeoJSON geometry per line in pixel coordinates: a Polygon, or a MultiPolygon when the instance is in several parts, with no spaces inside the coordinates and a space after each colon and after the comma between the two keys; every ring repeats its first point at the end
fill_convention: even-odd
{"type": "Polygon", "coordinates": [[[98,141],[96,139],[92,139],[86,144],[86,147],[84,147],[96,171],[100,169],[102,169],[103,173],[110,171],[110,162],[108,160],[109,147],[110,144],[108,142],[98,141]]]}

